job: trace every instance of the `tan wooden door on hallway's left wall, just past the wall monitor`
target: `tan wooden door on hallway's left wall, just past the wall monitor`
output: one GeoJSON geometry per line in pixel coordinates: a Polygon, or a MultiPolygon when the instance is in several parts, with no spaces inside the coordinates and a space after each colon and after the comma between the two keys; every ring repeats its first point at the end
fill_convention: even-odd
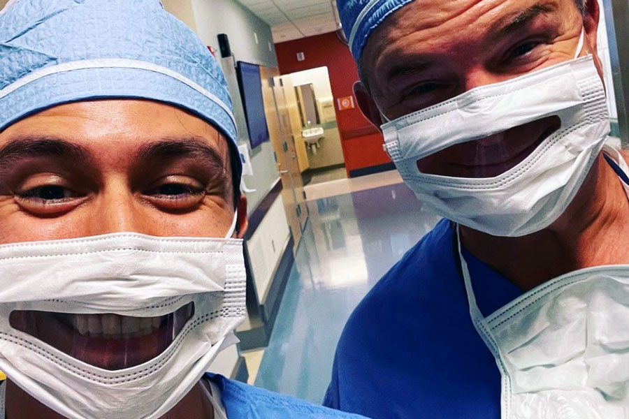
{"type": "Polygon", "coordinates": [[[301,240],[301,233],[305,223],[308,220],[308,209],[303,199],[303,182],[297,163],[294,142],[289,135],[290,131],[286,131],[282,122],[285,106],[282,112],[280,103],[283,103],[283,96],[279,97],[280,103],[277,103],[275,80],[278,74],[279,72],[275,68],[260,66],[264,113],[266,115],[270,142],[275,154],[277,171],[280,172],[282,200],[284,200],[284,208],[293,234],[294,248],[296,249],[301,240]]]}

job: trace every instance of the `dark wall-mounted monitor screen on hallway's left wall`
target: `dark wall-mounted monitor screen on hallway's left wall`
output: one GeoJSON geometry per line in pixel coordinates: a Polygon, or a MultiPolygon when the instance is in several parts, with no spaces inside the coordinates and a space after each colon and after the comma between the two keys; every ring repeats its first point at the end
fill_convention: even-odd
{"type": "Polygon", "coordinates": [[[254,149],[269,139],[264,115],[260,67],[238,61],[238,86],[243,98],[251,148],[254,149]]]}

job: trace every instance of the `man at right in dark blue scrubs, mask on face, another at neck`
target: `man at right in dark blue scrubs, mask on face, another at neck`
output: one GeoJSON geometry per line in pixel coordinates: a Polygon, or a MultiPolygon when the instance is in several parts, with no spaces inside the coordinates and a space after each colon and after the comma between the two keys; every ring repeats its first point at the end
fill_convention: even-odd
{"type": "Polygon", "coordinates": [[[596,0],[338,0],[355,94],[444,216],[359,304],[327,406],[629,417],[629,177],[596,0]]]}

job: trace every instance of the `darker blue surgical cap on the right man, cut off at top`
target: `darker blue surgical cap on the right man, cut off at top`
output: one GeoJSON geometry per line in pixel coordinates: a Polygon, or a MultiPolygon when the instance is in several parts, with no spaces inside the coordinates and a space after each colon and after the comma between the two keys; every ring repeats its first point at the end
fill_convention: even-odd
{"type": "Polygon", "coordinates": [[[356,61],[361,58],[367,39],[379,24],[411,1],[413,0],[336,0],[343,31],[356,61]]]}

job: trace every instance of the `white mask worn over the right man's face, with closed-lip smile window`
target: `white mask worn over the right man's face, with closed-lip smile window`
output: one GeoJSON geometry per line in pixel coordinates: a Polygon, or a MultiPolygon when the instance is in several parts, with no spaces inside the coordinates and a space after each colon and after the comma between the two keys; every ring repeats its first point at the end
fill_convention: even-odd
{"type": "Polygon", "coordinates": [[[609,117],[590,55],[477,87],[384,124],[382,131],[386,151],[426,207],[491,235],[521,236],[546,228],[564,212],[598,158],[609,117]],[[553,116],[561,128],[496,177],[429,175],[417,167],[420,159],[452,145],[553,116]]]}

